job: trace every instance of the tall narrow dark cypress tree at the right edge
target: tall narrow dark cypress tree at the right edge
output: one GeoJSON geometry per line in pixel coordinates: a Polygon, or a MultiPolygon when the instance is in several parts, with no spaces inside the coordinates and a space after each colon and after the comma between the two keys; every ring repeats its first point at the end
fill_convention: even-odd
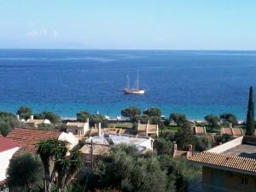
{"type": "Polygon", "coordinates": [[[253,136],[254,135],[254,102],[253,102],[253,87],[250,87],[249,91],[249,99],[248,99],[248,107],[247,107],[247,129],[246,135],[253,136]]]}

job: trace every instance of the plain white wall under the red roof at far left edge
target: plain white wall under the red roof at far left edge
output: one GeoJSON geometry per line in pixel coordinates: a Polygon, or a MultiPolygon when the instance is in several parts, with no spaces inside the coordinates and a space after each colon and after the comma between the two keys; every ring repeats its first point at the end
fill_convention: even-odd
{"type": "Polygon", "coordinates": [[[6,178],[6,171],[9,167],[9,160],[18,149],[19,147],[11,148],[0,153],[0,181],[3,181],[6,178]]]}

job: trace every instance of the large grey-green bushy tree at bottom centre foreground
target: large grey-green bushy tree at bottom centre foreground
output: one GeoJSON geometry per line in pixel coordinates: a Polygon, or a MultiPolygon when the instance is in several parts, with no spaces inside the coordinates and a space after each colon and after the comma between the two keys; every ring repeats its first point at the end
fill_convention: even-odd
{"type": "Polygon", "coordinates": [[[166,174],[160,169],[157,157],[143,157],[137,154],[134,146],[111,148],[96,167],[96,175],[97,187],[101,189],[116,187],[127,192],[171,191],[167,189],[166,174]]]}

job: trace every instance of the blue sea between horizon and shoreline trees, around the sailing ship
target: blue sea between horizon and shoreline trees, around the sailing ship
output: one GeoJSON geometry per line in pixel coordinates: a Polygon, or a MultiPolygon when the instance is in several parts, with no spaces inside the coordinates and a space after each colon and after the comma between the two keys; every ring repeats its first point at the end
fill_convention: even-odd
{"type": "Polygon", "coordinates": [[[190,119],[225,112],[244,119],[255,75],[256,51],[0,49],[0,110],[114,117],[134,105],[190,119]],[[136,86],[137,69],[148,92],[125,95],[126,75],[136,86]]]}

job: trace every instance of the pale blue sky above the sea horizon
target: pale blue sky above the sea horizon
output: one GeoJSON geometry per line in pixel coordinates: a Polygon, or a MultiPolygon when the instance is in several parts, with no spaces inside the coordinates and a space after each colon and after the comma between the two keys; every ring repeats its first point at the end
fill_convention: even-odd
{"type": "Polygon", "coordinates": [[[256,49],[256,1],[0,0],[0,48],[256,49]]]}

